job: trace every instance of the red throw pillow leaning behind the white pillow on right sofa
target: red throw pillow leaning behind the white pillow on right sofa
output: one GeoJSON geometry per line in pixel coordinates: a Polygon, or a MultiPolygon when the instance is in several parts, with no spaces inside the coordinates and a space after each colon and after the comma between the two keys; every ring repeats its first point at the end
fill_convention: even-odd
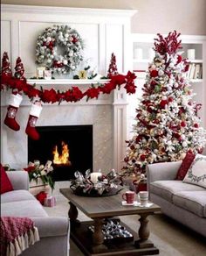
{"type": "Polygon", "coordinates": [[[193,160],[195,159],[196,154],[188,152],[186,153],[185,158],[182,160],[181,167],[179,168],[175,180],[182,181],[184,176],[188,173],[189,167],[191,166],[193,160]]]}

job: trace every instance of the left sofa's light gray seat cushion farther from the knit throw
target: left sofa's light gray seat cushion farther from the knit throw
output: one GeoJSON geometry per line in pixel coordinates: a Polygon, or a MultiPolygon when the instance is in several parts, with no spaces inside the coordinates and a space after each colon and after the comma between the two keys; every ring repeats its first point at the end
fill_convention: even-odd
{"type": "Polygon", "coordinates": [[[1,195],[1,203],[10,203],[24,200],[36,200],[27,190],[14,190],[1,195]]]}

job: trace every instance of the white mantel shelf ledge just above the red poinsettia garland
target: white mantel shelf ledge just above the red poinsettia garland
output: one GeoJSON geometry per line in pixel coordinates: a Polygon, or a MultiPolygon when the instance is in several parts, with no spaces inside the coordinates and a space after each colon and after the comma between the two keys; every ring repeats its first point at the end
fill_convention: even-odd
{"type": "Polygon", "coordinates": [[[72,85],[72,84],[101,84],[109,82],[109,79],[100,79],[100,80],[94,80],[94,79],[27,79],[27,82],[30,84],[40,84],[40,85],[54,85],[54,84],[62,84],[62,85],[72,85]]]}

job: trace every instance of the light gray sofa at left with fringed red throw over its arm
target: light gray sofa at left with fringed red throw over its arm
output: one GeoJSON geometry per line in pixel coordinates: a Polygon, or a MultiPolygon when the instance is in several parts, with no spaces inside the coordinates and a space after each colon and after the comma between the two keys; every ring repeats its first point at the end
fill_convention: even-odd
{"type": "Polygon", "coordinates": [[[38,227],[40,241],[31,245],[22,256],[69,255],[69,220],[48,217],[41,203],[31,195],[28,174],[24,171],[7,172],[13,191],[1,195],[1,216],[30,217],[38,227]]]}

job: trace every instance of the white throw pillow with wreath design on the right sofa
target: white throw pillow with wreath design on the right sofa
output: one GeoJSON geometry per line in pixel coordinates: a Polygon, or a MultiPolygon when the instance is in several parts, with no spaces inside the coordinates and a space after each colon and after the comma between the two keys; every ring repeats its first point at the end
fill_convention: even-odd
{"type": "Polygon", "coordinates": [[[206,155],[196,154],[183,182],[206,188],[206,155]]]}

